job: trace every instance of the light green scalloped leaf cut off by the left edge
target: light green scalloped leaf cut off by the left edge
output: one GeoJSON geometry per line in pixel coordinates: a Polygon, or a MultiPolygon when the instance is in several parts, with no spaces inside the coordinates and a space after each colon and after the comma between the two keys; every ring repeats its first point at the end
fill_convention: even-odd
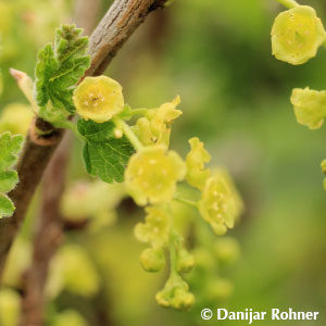
{"type": "Polygon", "coordinates": [[[17,153],[22,149],[24,137],[12,136],[10,133],[0,135],[0,217],[11,216],[14,204],[5,195],[18,181],[17,173],[12,166],[17,162],[17,153]]]}

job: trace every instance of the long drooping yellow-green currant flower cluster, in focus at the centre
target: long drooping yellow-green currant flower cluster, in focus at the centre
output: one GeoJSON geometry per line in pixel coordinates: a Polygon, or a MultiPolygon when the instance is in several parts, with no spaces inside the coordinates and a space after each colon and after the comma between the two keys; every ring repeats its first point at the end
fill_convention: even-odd
{"type": "MultiPolygon", "coordinates": [[[[84,120],[99,124],[96,129],[91,125],[91,129],[82,130],[88,139],[97,145],[103,137],[105,140],[104,123],[112,122],[115,125],[113,137],[117,140],[126,137],[134,146],[136,152],[128,160],[124,181],[135,202],[146,206],[145,223],[135,227],[136,238],[149,246],[140,254],[140,264],[147,272],[159,272],[165,265],[165,252],[170,252],[171,276],[156,294],[156,301],[163,306],[190,308],[195,297],[181,274],[192,269],[195,258],[175,227],[171,204],[178,201],[192,205],[215,234],[225,234],[227,228],[234,227],[242,210],[230,177],[224,171],[212,173],[205,167],[211,155],[197,137],[189,140],[186,160],[170,150],[172,123],[183,113],[176,109],[179,97],[155,109],[133,110],[124,105],[122,87],[101,76],[86,78],[74,91],[74,103],[84,120]],[[140,115],[135,124],[127,124],[135,115],[140,115]],[[179,196],[178,183],[184,180],[200,191],[195,201],[179,196]]],[[[85,126],[84,123],[83,128],[85,126]]]]}

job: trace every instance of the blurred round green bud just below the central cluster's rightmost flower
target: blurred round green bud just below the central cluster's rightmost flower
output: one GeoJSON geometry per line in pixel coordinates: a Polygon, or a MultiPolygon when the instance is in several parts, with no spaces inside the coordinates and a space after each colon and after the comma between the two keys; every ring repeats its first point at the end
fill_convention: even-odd
{"type": "Polygon", "coordinates": [[[214,252],[223,264],[229,264],[240,255],[240,247],[236,239],[224,237],[215,240],[214,252]]]}

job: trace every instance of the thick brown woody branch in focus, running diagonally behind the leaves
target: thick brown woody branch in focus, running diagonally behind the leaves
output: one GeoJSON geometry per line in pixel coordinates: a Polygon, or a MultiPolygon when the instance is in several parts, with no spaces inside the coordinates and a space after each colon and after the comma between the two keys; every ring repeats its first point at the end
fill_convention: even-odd
{"type": "MultiPolygon", "coordinates": [[[[161,7],[162,0],[159,2],[155,0],[116,0],[90,37],[91,66],[86,75],[93,76],[102,73],[145,17],[152,10],[161,7]]],[[[42,121],[37,118],[39,125],[40,122],[42,121]]],[[[12,217],[0,222],[0,275],[35,190],[62,139],[63,131],[60,129],[47,126],[47,136],[37,136],[34,126],[35,124],[30,128],[17,166],[21,181],[10,193],[16,211],[12,217]]]]}

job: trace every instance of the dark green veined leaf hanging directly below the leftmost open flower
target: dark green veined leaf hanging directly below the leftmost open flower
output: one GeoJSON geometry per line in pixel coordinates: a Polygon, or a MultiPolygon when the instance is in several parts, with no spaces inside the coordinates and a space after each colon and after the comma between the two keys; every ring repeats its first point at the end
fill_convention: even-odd
{"type": "Polygon", "coordinates": [[[126,165],[135,152],[125,136],[114,138],[114,128],[110,121],[102,124],[83,118],[78,121],[78,131],[87,139],[83,152],[86,170],[109,184],[124,180],[126,165]]]}

